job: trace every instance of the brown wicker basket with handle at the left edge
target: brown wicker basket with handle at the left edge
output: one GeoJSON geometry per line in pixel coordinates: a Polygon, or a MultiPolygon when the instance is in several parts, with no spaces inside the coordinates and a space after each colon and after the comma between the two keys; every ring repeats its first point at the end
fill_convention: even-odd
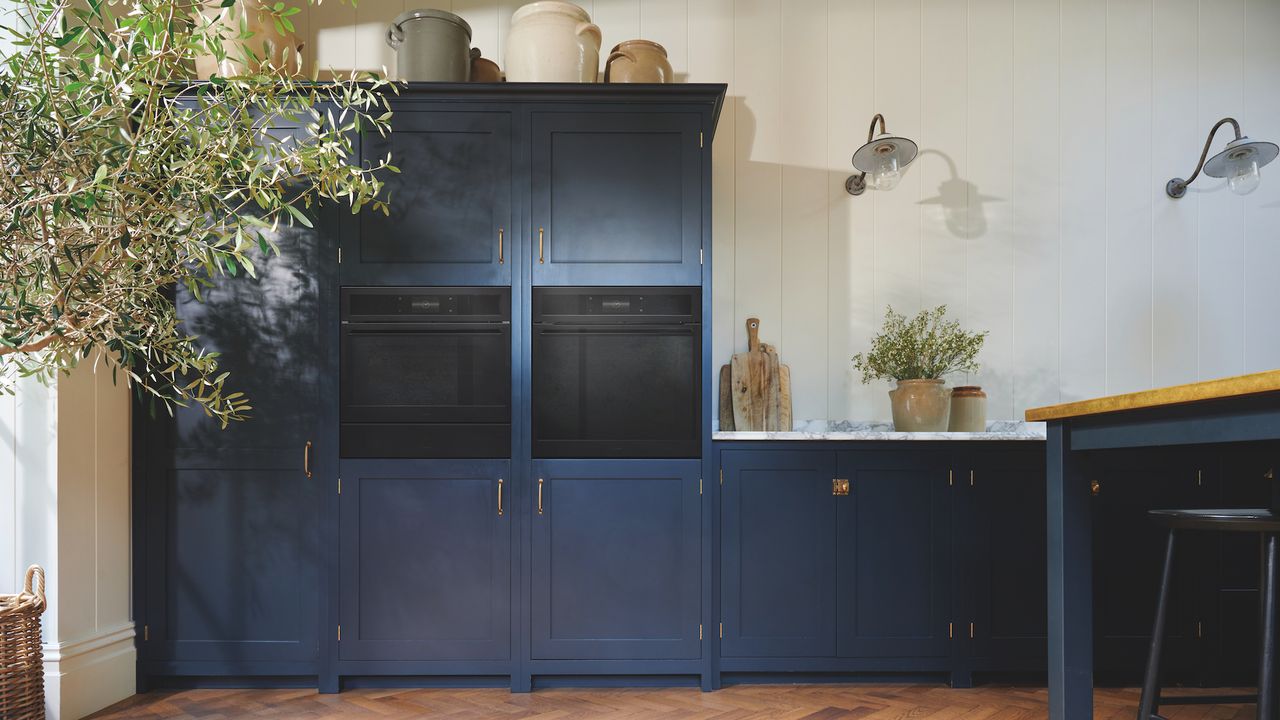
{"type": "Polygon", "coordinates": [[[40,615],[45,611],[45,571],[27,568],[18,594],[0,594],[0,717],[45,717],[45,664],[40,615]]]}

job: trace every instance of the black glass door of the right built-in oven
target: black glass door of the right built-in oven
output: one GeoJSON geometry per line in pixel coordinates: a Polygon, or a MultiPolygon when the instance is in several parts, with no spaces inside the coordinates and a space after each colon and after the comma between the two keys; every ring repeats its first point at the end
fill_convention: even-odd
{"type": "Polygon", "coordinates": [[[699,325],[535,325],[535,457],[696,457],[699,325]]]}

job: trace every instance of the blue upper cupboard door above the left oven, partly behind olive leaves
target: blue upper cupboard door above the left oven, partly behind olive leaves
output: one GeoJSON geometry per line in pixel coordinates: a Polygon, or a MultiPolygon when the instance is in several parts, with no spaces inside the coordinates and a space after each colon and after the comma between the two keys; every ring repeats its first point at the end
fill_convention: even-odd
{"type": "Polygon", "coordinates": [[[387,137],[361,140],[366,164],[390,152],[401,170],[380,176],[389,214],[347,223],[342,284],[509,284],[511,114],[394,111],[387,137]]]}

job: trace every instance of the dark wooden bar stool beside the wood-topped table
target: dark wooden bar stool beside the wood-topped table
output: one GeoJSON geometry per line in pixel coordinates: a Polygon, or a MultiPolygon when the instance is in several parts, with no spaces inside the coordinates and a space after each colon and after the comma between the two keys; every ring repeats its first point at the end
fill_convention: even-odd
{"type": "Polygon", "coordinates": [[[1156,626],[1151,635],[1151,655],[1142,683],[1142,702],[1138,720],[1160,719],[1160,705],[1245,703],[1257,702],[1258,719],[1276,717],[1276,565],[1280,562],[1280,514],[1271,510],[1152,510],[1151,518],[1169,528],[1165,547],[1165,571],[1160,579],[1160,600],[1156,601],[1156,626]],[[1260,533],[1263,538],[1266,561],[1262,569],[1262,638],[1258,653],[1257,696],[1199,696],[1160,697],[1160,653],[1165,643],[1165,615],[1169,607],[1169,585],[1174,573],[1174,541],[1179,530],[1219,530],[1229,533],[1260,533]]]}

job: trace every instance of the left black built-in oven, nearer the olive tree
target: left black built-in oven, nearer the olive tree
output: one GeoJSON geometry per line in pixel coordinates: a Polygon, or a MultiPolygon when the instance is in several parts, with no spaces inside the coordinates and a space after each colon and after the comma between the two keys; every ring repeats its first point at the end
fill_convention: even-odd
{"type": "Polygon", "coordinates": [[[511,456],[511,288],[342,290],[343,457],[511,456]]]}

